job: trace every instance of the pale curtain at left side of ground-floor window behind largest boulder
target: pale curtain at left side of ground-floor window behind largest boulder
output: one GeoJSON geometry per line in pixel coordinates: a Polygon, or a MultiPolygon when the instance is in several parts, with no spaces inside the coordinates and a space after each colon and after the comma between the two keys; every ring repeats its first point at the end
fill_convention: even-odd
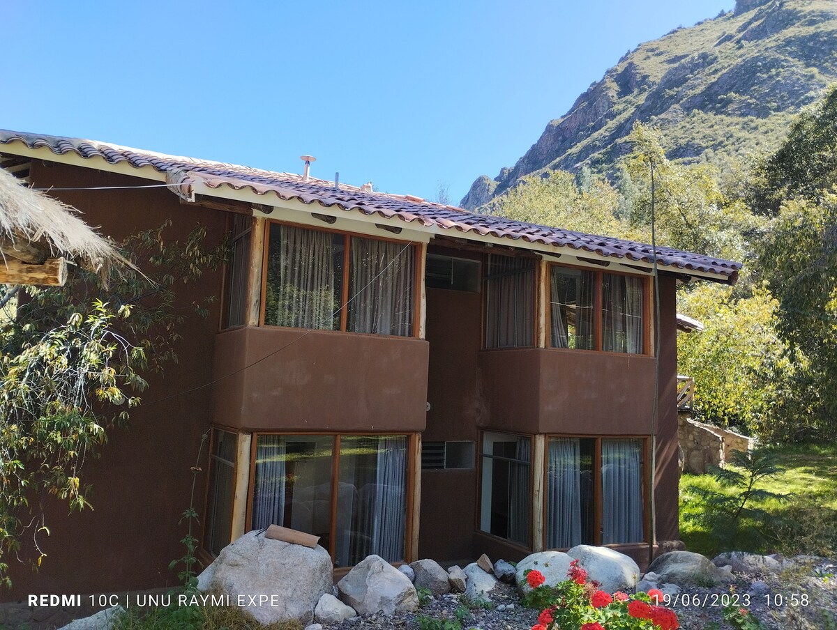
{"type": "Polygon", "coordinates": [[[285,524],[285,438],[260,435],[256,443],[254,530],[285,524]]]}

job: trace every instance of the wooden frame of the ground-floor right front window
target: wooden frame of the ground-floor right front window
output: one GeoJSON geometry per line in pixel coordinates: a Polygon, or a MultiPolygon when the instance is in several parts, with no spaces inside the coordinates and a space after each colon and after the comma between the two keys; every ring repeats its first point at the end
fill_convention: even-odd
{"type": "MultiPolygon", "coordinates": [[[[557,350],[561,350],[557,348],[557,350]]],[[[583,545],[595,545],[605,547],[620,547],[624,545],[647,545],[650,531],[651,531],[651,494],[649,487],[649,467],[651,463],[651,439],[648,435],[603,435],[603,434],[589,434],[589,433],[546,433],[543,443],[543,488],[547,488],[549,483],[549,442],[552,438],[579,438],[579,439],[593,439],[595,444],[593,446],[593,470],[596,471],[596,476],[593,482],[593,541],[582,542],[583,545]],[[643,539],[644,540],[630,540],[629,542],[608,543],[602,544],[602,527],[603,527],[603,494],[602,494],[602,440],[639,440],[640,446],[640,470],[639,479],[642,482],[640,494],[642,495],[642,523],[643,523],[643,539]]],[[[543,497],[543,538],[541,540],[544,551],[567,551],[569,547],[549,547],[548,540],[548,520],[549,520],[549,503],[548,493],[544,492],[543,497]]]]}

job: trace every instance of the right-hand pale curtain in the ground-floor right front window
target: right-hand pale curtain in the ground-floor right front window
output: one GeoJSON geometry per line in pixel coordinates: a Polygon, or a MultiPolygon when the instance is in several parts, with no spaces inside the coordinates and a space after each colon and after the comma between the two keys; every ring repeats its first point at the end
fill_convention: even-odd
{"type": "Polygon", "coordinates": [[[642,441],[602,440],[602,544],[644,540],[642,441]]]}

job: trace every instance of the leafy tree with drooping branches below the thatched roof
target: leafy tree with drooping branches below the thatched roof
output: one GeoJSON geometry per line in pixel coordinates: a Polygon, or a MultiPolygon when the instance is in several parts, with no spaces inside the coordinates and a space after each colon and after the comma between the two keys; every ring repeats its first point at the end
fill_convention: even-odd
{"type": "MultiPolygon", "coordinates": [[[[177,326],[186,313],[175,287],[219,264],[225,248],[205,248],[203,228],[168,243],[166,227],[123,243],[146,273],[119,269],[105,286],[99,275],[77,269],[65,287],[26,287],[17,313],[0,322],[0,576],[27,530],[34,561],[43,560],[43,494],[70,510],[90,507],[85,460],[141,403],[142,375],[177,361],[177,326]]],[[[205,315],[212,300],[191,306],[205,315]]]]}

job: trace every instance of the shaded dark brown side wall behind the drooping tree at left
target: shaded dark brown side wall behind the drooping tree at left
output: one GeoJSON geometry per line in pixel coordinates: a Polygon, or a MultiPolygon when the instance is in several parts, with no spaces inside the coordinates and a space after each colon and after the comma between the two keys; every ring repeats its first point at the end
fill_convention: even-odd
{"type": "MultiPolygon", "coordinates": [[[[37,187],[137,186],[147,180],[97,172],[93,169],[32,163],[37,187]]],[[[137,191],[56,191],[55,197],[79,208],[101,233],[122,238],[139,229],[158,228],[171,218],[167,238],[182,238],[198,223],[211,239],[221,238],[223,213],[186,207],[165,189],[137,191]]],[[[220,271],[204,274],[198,284],[178,289],[183,303],[220,295],[220,271]]],[[[102,296],[107,299],[106,295],[102,296]]],[[[66,504],[44,497],[47,525],[42,536],[47,554],[36,574],[9,556],[14,587],[0,599],[11,601],[33,593],[108,592],[177,583],[172,559],[182,556],[178,542],[185,534],[178,525],[189,505],[190,467],[195,464],[201,435],[209,426],[208,389],[182,394],[212,379],[213,340],[218,328],[218,307],[208,318],[187,315],[177,346],[180,363],[164,378],[149,376],[141,394],[143,407],[131,411],[127,430],[110,432],[101,458],[88,459],[83,481],[93,484],[90,499],[95,510],[68,515],[66,504]],[[162,401],[162,402],[155,402],[162,401]]],[[[205,450],[204,450],[205,453],[205,450]]],[[[206,467],[204,466],[204,470],[206,467]]],[[[203,477],[198,479],[198,513],[203,513],[203,477]]],[[[25,541],[24,541],[25,542],[25,541]]]]}

